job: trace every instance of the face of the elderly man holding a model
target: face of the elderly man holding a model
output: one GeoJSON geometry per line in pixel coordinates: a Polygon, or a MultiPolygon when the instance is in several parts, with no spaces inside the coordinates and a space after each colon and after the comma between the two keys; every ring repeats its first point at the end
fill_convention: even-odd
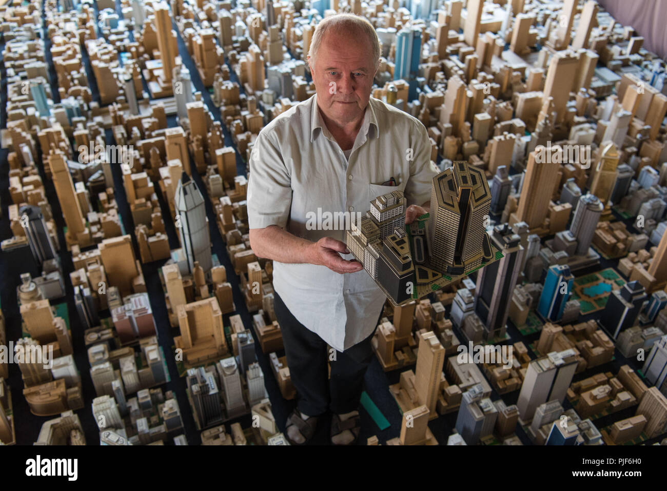
{"type": "Polygon", "coordinates": [[[364,114],[377,71],[366,36],[329,31],[308,65],[326,117],[344,125],[364,114]]]}

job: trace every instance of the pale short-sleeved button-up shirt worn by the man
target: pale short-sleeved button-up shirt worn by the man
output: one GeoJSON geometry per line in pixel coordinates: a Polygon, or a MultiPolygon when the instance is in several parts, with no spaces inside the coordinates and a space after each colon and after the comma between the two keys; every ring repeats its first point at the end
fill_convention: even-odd
{"type": "MultiPolygon", "coordinates": [[[[327,221],[327,212],[366,215],[370,201],[390,191],[404,191],[408,205],[422,205],[439,173],[422,122],[374,97],[347,159],[321,118],[317,95],[263,127],[249,167],[249,227],[278,225],[311,241],[344,241],[345,227],[327,221]],[[384,185],[392,177],[398,187],[384,185]],[[312,229],[318,216],[320,229],[312,229]]],[[[370,336],[386,300],[366,270],[342,275],[312,264],[274,261],[273,288],[303,326],[338,351],[370,336]]]]}

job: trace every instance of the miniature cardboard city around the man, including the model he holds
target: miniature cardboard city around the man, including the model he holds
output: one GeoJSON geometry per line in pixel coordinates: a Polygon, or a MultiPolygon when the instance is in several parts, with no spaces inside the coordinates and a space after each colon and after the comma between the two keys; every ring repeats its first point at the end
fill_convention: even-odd
{"type": "Polygon", "coordinates": [[[388,298],[360,442],[667,445],[666,52],[594,0],[0,1],[0,442],[287,444],[251,155],[342,11],[438,167],[344,235],[388,298]]]}

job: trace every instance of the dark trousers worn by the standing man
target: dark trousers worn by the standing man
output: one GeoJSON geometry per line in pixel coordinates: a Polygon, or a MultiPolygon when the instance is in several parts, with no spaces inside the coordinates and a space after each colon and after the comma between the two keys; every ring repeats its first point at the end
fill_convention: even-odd
{"type": "Polygon", "coordinates": [[[297,321],[276,292],[273,292],[273,310],[283,335],[289,376],[299,396],[299,411],[307,416],[319,416],[327,410],[335,414],[357,410],[364,374],[374,356],[373,334],[340,352],[328,348],[322,338],[297,321]],[[330,380],[327,377],[329,362],[330,380]]]}

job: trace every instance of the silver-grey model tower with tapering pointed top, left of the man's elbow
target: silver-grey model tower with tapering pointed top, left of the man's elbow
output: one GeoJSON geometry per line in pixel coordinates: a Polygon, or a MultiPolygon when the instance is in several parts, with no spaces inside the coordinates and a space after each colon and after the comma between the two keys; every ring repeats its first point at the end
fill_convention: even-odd
{"type": "Polygon", "coordinates": [[[204,272],[209,272],[213,267],[213,260],[204,198],[195,181],[185,172],[176,185],[173,203],[189,272],[194,271],[195,261],[199,262],[204,272]]]}

